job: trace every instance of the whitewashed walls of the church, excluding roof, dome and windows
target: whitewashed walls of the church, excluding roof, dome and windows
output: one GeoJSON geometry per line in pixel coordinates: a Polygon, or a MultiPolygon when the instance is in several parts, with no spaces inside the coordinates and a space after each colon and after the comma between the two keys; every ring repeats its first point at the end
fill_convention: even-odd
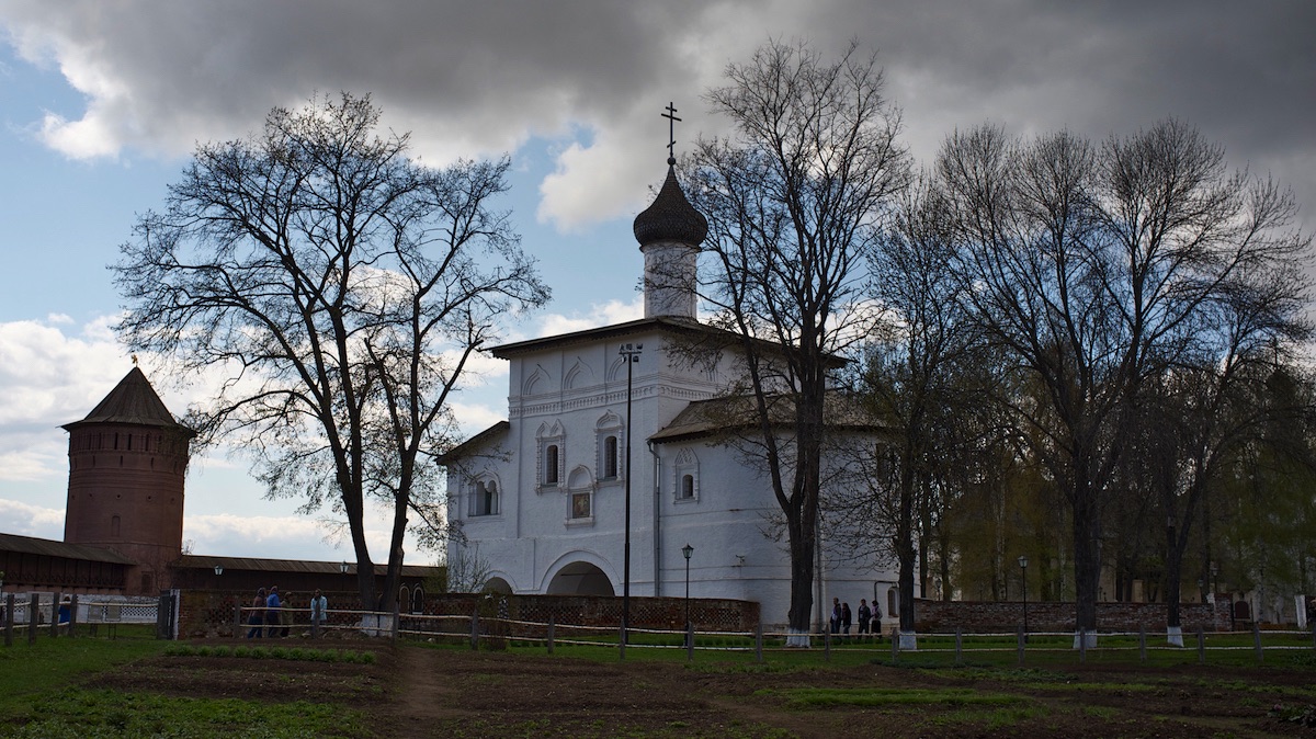
{"type": "MultiPolygon", "coordinates": [[[[790,558],[784,540],[765,535],[770,529],[767,518],[778,512],[769,480],[755,467],[742,464],[738,452],[728,447],[680,442],[651,450],[645,442],[691,400],[711,397],[726,377],[725,367],[709,375],[666,362],[665,355],[663,337],[657,331],[624,341],[554,345],[517,355],[511,362],[508,434],[491,442],[488,456],[468,460],[467,469],[476,477],[496,480],[499,513],[470,515],[470,480],[450,472],[450,515],[462,522],[470,542],[466,551],[478,552],[490,576],[501,577],[517,593],[545,593],[563,567],[588,563],[607,576],[620,596],[625,476],[630,473],[633,596],[683,596],[682,547],[688,543],[695,547],[690,560],[691,597],[758,601],[765,623],[784,625],[790,558]],[[625,463],[626,366],[619,356],[620,343],[644,346],[640,362],[632,366],[630,469],[625,463]],[[605,425],[611,419],[621,423],[616,480],[599,479],[600,419],[605,425]],[[551,488],[541,484],[540,434],[555,423],[562,430],[562,475],[558,487],[551,488]],[[508,454],[496,454],[499,447],[508,454]],[[678,500],[676,462],[683,451],[697,459],[692,500],[678,500]],[[587,489],[592,490],[594,515],[588,521],[570,518],[574,476],[587,479],[587,489]]],[[[449,554],[451,560],[454,548],[449,554]]],[[[829,569],[822,597],[830,604],[832,594],[837,594],[858,610],[858,600],[871,597],[874,581],[894,579],[849,567],[829,569]]],[[[886,585],[880,589],[884,593],[886,585]]]]}

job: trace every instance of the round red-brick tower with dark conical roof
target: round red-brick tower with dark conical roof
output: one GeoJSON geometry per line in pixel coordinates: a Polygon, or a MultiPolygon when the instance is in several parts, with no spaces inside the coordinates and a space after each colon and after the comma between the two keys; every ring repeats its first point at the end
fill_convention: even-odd
{"type": "Polygon", "coordinates": [[[174,419],[137,367],[68,431],[64,542],[133,559],[126,594],[168,586],[183,552],[183,475],[195,431],[174,419]]]}

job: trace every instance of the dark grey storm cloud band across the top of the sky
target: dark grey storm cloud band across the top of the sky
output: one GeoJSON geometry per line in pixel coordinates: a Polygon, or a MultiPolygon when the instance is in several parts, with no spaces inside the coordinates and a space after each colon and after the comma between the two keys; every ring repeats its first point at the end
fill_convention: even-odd
{"type": "Polygon", "coordinates": [[[1294,185],[1316,222],[1307,0],[38,0],[7,3],[0,21],[26,57],[58,63],[88,96],[86,110],[45,124],[46,141],[71,155],[183,153],[251,130],[271,105],[312,91],[371,92],[432,160],[565,137],[542,212],[580,222],[633,206],[619,192],[653,180],[657,110],[669,99],[684,99],[691,131],[711,133],[720,124],[696,110],[696,95],[728,60],[770,37],[828,54],[857,38],[879,49],[921,159],[953,129],[984,121],[1101,139],[1179,117],[1234,166],[1294,185]]]}

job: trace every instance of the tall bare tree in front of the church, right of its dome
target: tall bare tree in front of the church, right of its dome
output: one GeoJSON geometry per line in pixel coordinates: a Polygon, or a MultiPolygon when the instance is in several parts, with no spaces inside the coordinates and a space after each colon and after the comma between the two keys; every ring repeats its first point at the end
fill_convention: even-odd
{"type": "Polygon", "coordinates": [[[863,255],[907,179],[899,116],[873,57],[855,45],[825,62],[804,43],[770,42],[707,100],[736,133],[701,141],[690,188],[709,221],[713,268],[701,292],[712,322],[741,337],[754,434],[786,517],[790,629],[807,642],[813,605],[824,394],[837,355],[875,320],[863,305],[863,255]],[[788,397],[794,423],[774,425],[788,397]]]}

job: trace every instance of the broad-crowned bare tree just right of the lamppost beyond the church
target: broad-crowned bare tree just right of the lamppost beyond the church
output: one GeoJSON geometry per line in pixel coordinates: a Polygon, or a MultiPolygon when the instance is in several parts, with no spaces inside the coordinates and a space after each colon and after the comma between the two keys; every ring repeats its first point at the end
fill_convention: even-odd
{"type": "Polygon", "coordinates": [[[951,135],[938,174],[975,316],[1045,388],[1016,412],[1073,515],[1078,626],[1096,626],[1103,505],[1149,376],[1182,359],[1240,275],[1305,251],[1292,197],[1230,172],[1166,121],[1094,146],[1071,133],[951,135]]]}

